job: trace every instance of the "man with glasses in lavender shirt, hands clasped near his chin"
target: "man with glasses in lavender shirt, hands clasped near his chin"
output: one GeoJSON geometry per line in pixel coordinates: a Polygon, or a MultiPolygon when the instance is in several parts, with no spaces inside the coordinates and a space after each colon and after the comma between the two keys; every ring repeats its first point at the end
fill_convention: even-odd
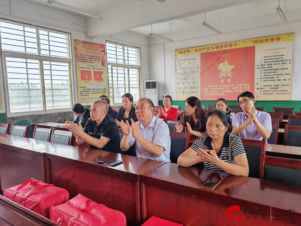
{"type": "Polygon", "coordinates": [[[243,92],[238,96],[243,112],[235,114],[232,120],[232,134],[241,139],[268,139],[272,132],[271,116],[264,111],[255,109],[255,97],[251,92],[243,92]]]}

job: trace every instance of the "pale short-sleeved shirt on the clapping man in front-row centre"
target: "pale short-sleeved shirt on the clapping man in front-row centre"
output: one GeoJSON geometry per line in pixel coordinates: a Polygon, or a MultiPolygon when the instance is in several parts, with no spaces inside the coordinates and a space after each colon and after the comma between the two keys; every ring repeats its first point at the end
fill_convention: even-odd
{"type": "Polygon", "coordinates": [[[155,145],[162,146],[163,153],[160,157],[156,157],[155,155],[146,151],[142,145],[136,142],[135,138],[132,135],[132,131],[130,129],[128,143],[133,145],[136,143],[136,156],[146,159],[154,159],[162,162],[170,162],[170,153],[171,153],[171,137],[168,125],[157,116],[154,116],[152,121],[150,121],[148,127],[144,128],[144,125],[141,121],[136,122],[139,126],[139,134],[150,143],[155,145]]]}

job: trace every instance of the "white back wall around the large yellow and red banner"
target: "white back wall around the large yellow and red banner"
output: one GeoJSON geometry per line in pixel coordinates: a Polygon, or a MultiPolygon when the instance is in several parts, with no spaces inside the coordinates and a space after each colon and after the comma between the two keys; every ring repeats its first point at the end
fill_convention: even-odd
{"type": "MultiPolygon", "coordinates": [[[[277,26],[252,29],[229,34],[213,35],[210,37],[193,38],[173,43],[150,44],[148,47],[149,79],[159,81],[159,99],[162,95],[176,96],[175,80],[175,49],[203,46],[215,43],[250,39],[276,34],[295,33],[294,70],[293,70],[293,100],[301,100],[301,22],[279,24],[277,26]]],[[[149,38],[150,39],[150,38],[149,38]]],[[[149,42],[150,43],[150,42],[149,42]]]]}

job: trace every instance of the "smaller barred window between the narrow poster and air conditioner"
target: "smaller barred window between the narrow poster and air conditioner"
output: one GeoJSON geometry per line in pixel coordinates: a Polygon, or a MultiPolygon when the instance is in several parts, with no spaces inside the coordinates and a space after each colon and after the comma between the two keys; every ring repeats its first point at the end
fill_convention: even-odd
{"type": "Polygon", "coordinates": [[[140,48],[106,42],[109,77],[109,97],[113,104],[122,103],[121,96],[129,92],[134,101],[140,91],[140,48]]]}

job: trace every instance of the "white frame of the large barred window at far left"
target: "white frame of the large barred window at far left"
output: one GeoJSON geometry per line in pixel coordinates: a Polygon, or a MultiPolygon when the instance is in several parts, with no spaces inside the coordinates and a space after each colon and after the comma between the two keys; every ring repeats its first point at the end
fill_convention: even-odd
{"type": "Polygon", "coordinates": [[[72,46],[71,46],[71,34],[67,32],[60,32],[56,30],[51,30],[39,26],[32,26],[22,23],[16,23],[6,20],[0,20],[3,23],[8,24],[15,24],[18,26],[24,26],[29,28],[34,28],[37,30],[37,47],[38,47],[38,54],[30,54],[30,53],[21,53],[21,52],[13,52],[13,51],[6,51],[2,50],[2,43],[0,39],[0,49],[1,49],[1,57],[2,57],[2,68],[3,68],[3,80],[4,80],[4,94],[5,97],[2,98],[5,100],[5,107],[7,112],[7,117],[18,117],[18,116],[24,116],[27,115],[42,115],[42,114],[48,114],[48,113],[56,113],[56,112],[65,112],[69,110],[70,108],[57,108],[57,109],[47,109],[46,108],[46,91],[45,91],[45,81],[44,81],[44,68],[43,68],[43,62],[49,61],[49,62],[60,62],[60,63],[67,63],[68,64],[68,71],[69,71],[69,90],[70,90],[70,105],[73,106],[74,103],[74,81],[72,78],[73,73],[73,60],[72,60],[72,46]],[[68,37],[68,48],[69,48],[69,58],[64,57],[51,57],[51,56],[45,56],[41,55],[41,48],[40,48],[40,29],[47,32],[52,33],[58,33],[58,34],[64,34],[68,37]],[[31,60],[37,60],[39,61],[39,72],[40,72],[40,81],[41,81],[41,104],[42,108],[44,110],[37,110],[37,111],[22,111],[22,112],[11,112],[10,107],[10,97],[9,97],[9,84],[8,84],[8,74],[7,74],[7,64],[6,64],[6,58],[12,57],[12,58],[21,58],[21,59],[31,59],[31,60]]]}

